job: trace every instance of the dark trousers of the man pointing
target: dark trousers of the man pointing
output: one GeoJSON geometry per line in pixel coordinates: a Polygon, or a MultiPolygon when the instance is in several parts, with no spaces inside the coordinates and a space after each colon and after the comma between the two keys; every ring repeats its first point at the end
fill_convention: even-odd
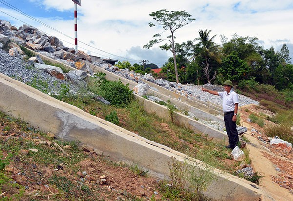
{"type": "Polygon", "coordinates": [[[232,121],[234,113],[224,115],[224,122],[226,127],[226,132],[229,138],[230,147],[238,146],[238,132],[236,129],[236,122],[232,121]]]}

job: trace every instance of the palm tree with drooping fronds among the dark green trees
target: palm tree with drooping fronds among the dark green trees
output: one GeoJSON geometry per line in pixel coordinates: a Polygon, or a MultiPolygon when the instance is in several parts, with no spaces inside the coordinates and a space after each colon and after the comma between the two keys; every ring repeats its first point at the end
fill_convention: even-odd
{"type": "Polygon", "coordinates": [[[209,73],[212,70],[212,67],[209,66],[209,59],[216,60],[218,63],[221,63],[221,53],[219,51],[220,47],[219,45],[213,42],[216,35],[214,35],[213,37],[209,39],[210,32],[211,30],[207,32],[207,29],[205,31],[199,30],[198,33],[200,38],[195,39],[195,40],[200,40],[200,42],[198,43],[200,48],[199,54],[205,60],[204,74],[207,77],[208,83],[214,80],[217,74],[217,71],[215,71],[212,78],[209,77],[209,73]]]}

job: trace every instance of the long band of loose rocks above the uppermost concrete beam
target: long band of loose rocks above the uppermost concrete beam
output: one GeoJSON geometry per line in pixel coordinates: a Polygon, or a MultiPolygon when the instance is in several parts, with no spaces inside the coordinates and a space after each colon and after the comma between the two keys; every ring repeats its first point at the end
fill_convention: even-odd
{"type": "MultiPolygon", "coordinates": [[[[73,48],[65,47],[62,41],[60,41],[58,38],[54,36],[48,36],[34,27],[24,24],[23,26],[16,28],[12,26],[10,22],[0,20],[0,42],[3,45],[7,45],[8,41],[13,41],[13,43],[9,43],[10,55],[22,57],[23,52],[18,46],[22,45],[36,52],[40,52],[50,58],[59,60],[69,66],[76,68],[77,70],[83,70],[89,74],[93,74],[89,66],[83,62],[78,61],[86,60],[91,62],[91,57],[83,51],[79,50],[75,52],[73,48]]],[[[180,83],[177,84],[163,79],[155,79],[151,74],[141,75],[129,71],[129,69],[119,69],[116,66],[112,66],[111,64],[106,64],[103,60],[95,62],[94,64],[136,82],[144,83],[144,80],[148,80],[183,96],[195,97],[199,100],[221,106],[221,99],[219,97],[210,95],[208,93],[203,93],[200,89],[200,86],[195,86],[192,84],[182,85],[180,83]]],[[[212,88],[216,86],[206,85],[205,87],[212,88]]],[[[239,101],[240,106],[247,104],[258,104],[257,101],[242,95],[239,95],[239,101]]]]}

